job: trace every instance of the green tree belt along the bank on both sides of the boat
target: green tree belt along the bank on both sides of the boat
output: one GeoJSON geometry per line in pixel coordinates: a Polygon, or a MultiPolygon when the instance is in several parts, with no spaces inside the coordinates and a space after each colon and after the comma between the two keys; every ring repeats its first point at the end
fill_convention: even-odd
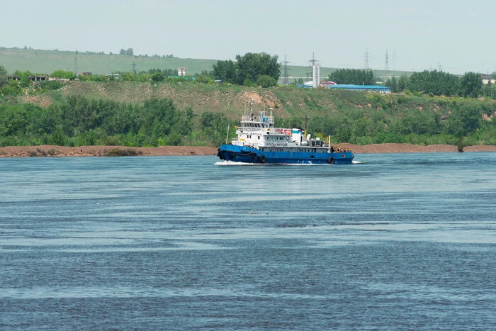
{"type": "MultiPolygon", "coordinates": [[[[317,92],[317,91],[315,91],[317,92]]],[[[336,91],[339,94],[339,91],[336,91]]],[[[496,145],[496,104],[476,99],[436,101],[435,107],[449,110],[422,110],[415,96],[346,92],[340,97],[342,111],[312,116],[308,130],[332,142],[367,145],[410,142],[417,145],[456,145],[460,138],[468,145],[496,145]],[[351,94],[359,96],[354,100],[351,94]],[[363,100],[365,98],[366,100],[363,100]],[[370,103],[370,108],[354,105],[370,103]],[[377,109],[380,109],[378,111],[377,109]],[[489,118],[492,116],[492,120],[489,118]]],[[[424,106],[427,106],[424,105],[424,106]]],[[[434,107],[433,106],[433,107],[434,107]]],[[[108,99],[68,96],[47,108],[32,103],[0,104],[0,146],[9,145],[211,145],[225,141],[229,120],[223,113],[194,113],[179,109],[170,99],[150,99],[144,103],[122,103],[108,99]]],[[[276,118],[276,126],[302,127],[300,116],[276,118]]],[[[230,130],[230,138],[234,131],[230,130]]]]}

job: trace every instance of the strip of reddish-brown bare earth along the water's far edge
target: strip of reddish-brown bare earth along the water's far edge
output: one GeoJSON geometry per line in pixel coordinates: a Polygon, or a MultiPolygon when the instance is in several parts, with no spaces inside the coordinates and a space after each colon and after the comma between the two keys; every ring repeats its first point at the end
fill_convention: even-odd
{"type": "MultiPolygon", "coordinates": [[[[363,153],[428,153],[457,152],[453,145],[419,146],[412,144],[353,145],[340,144],[355,154],[363,153]]],[[[467,146],[464,152],[496,152],[495,145],[467,146]]],[[[0,157],[102,157],[102,156],[191,156],[216,155],[217,148],[207,146],[162,146],[162,147],[125,147],[125,146],[9,146],[0,147],[0,157]]]]}

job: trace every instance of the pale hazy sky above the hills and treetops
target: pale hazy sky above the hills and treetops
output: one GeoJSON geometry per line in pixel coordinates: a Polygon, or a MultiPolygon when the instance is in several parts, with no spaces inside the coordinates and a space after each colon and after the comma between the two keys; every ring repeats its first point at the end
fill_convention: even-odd
{"type": "Polygon", "coordinates": [[[268,52],[294,65],[496,71],[496,0],[15,0],[0,46],[226,60],[268,52]]]}

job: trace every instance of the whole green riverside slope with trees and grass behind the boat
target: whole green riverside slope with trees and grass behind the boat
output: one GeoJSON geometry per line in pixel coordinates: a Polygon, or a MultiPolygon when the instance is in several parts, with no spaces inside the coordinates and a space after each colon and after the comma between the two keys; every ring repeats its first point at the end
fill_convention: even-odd
{"type": "Polygon", "coordinates": [[[273,108],[278,127],[306,124],[335,143],[496,145],[496,102],[489,99],[178,79],[10,85],[0,96],[0,146],[216,146],[234,135],[227,128],[239,123],[249,101],[256,112],[273,108]]]}

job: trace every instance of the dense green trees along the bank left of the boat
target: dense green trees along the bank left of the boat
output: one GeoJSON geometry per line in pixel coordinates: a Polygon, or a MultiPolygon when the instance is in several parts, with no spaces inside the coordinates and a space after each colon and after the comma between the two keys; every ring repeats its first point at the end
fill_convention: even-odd
{"type": "Polygon", "coordinates": [[[68,96],[41,108],[0,104],[0,146],[15,145],[218,145],[227,134],[223,113],[181,110],[171,99],[120,103],[68,96]]]}

